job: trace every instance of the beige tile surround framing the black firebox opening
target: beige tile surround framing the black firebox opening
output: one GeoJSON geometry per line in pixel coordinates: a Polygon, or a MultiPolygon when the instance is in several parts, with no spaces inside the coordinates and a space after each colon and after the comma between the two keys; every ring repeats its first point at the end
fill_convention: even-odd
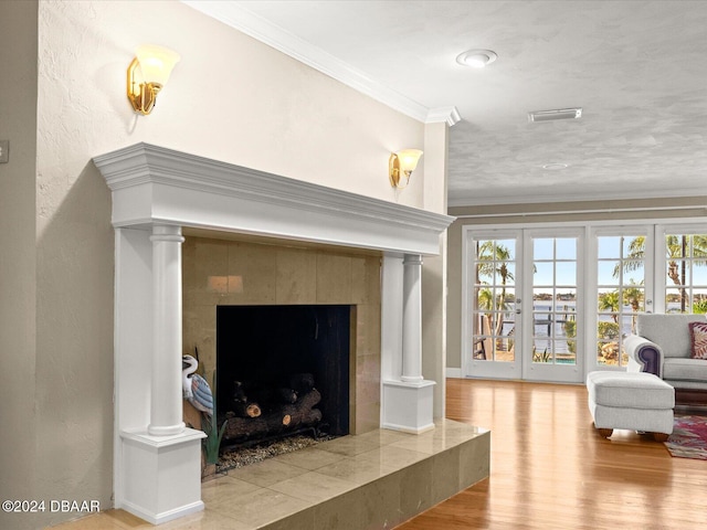
{"type": "Polygon", "coordinates": [[[217,360],[217,306],[352,306],[349,431],[378,428],[380,255],[309,248],[298,242],[264,244],[194,237],[184,232],[183,348],[199,348],[208,381],[213,380],[217,360]]]}

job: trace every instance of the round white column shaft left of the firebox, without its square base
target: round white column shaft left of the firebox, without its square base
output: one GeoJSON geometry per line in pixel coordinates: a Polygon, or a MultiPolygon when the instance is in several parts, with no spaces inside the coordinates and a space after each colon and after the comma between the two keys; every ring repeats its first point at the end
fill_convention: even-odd
{"type": "Polygon", "coordinates": [[[152,378],[148,433],[169,436],[184,430],[181,389],[180,226],[152,227],[152,378]]]}

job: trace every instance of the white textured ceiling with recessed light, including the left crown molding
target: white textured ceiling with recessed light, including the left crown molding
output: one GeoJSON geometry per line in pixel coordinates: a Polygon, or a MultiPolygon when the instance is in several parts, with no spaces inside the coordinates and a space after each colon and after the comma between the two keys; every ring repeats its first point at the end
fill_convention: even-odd
{"type": "Polygon", "coordinates": [[[705,0],[186,3],[423,121],[455,107],[450,205],[707,195],[705,0]]]}

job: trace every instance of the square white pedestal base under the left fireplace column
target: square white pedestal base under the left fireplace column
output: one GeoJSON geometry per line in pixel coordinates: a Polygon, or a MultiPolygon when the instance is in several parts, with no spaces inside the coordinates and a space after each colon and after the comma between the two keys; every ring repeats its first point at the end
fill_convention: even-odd
{"type": "Polygon", "coordinates": [[[205,436],[193,428],[172,436],[123,431],[123,495],[116,498],[116,508],[152,524],[203,510],[201,438],[205,436]]]}

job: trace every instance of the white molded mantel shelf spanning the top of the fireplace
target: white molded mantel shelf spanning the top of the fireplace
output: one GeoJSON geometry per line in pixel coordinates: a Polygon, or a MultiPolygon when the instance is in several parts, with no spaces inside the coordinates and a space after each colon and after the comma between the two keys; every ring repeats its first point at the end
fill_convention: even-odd
{"type": "Polygon", "coordinates": [[[116,227],[168,224],[430,255],[454,220],[149,144],[94,163],[113,192],[116,227]]]}

